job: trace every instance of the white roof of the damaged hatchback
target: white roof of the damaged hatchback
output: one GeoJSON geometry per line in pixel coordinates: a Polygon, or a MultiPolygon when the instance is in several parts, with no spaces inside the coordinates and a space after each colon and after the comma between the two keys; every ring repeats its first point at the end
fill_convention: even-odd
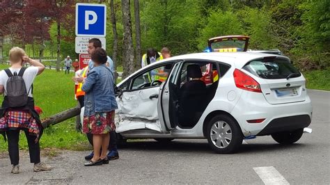
{"type": "MultiPolygon", "coordinates": [[[[170,61],[180,61],[180,60],[219,61],[222,63],[228,63],[230,65],[234,65],[236,68],[240,69],[249,61],[252,61],[257,58],[264,58],[267,56],[274,56],[276,58],[283,58],[285,60],[290,61],[290,59],[286,56],[279,56],[279,55],[275,55],[275,54],[264,54],[264,53],[251,53],[251,52],[244,52],[244,51],[184,54],[184,55],[180,55],[180,56],[173,56],[171,58],[167,58],[162,61],[157,61],[155,63],[147,65],[146,67],[143,67],[143,68],[137,70],[136,72],[134,72],[133,74],[129,75],[129,77],[132,77],[133,75],[141,72],[142,70],[145,70],[147,67],[149,68],[154,65],[158,65],[159,63],[170,62],[170,61]]],[[[123,83],[123,81],[118,83],[118,85],[120,85],[121,83],[123,83]]]]}

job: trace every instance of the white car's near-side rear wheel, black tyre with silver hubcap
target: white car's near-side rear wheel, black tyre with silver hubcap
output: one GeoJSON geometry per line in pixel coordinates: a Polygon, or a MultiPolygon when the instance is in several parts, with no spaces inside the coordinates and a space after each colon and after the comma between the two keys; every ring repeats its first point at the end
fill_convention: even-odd
{"type": "Polygon", "coordinates": [[[235,153],[242,140],[242,131],[236,120],[228,115],[216,115],[207,124],[207,141],[214,152],[235,153]]]}

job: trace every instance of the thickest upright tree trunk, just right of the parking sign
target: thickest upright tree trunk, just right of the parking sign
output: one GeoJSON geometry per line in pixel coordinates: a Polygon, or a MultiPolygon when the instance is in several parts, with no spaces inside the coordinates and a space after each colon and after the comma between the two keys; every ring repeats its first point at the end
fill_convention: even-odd
{"type": "Polygon", "coordinates": [[[124,42],[123,42],[123,79],[134,72],[134,47],[132,38],[132,21],[129,8],[129,0],[122,0],[123,11],[123,27],[124,27],[124,42]]]}

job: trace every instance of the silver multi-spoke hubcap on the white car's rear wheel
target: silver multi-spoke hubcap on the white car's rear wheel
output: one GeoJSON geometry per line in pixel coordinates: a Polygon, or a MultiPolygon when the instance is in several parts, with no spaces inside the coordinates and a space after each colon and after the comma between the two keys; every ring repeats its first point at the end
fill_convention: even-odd
{"type": "Polygon", "coordinates": [[[230,144],[233,134],[228,123],[219,121],[212,125],[210,136],[214,146],[225,148],[230,144]]]}

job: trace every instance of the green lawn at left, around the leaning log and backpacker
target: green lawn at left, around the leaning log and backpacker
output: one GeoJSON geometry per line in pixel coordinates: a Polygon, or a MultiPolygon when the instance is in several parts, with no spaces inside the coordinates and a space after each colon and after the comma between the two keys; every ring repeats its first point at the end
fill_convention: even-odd
{"type": "MultiPolygon", "coordinates": [[[[0,65],[0,69],[8,67],[0,65]]],[[[77,106],[74,100],[74,83],[71,81],[73,72],[68,75],[55,70],[45,70],[33,83],[33,96],[37,106],[42,108],[41,118],[47,118],[68,108],[77,106]]],[[[2,97],[0,97],[2,102],[2,97]]],[[[59,148],[66,150],[91,149],[85,134],[75,130],[75,120],[71,118],[45,129],[40,140],[42,148],[59,148]]],[[[7,150],[7,143],[0,136],[0,152],[7,150]]],[[[19,140],[20,149],[27,150],[24,133],[19,140]]]]}

